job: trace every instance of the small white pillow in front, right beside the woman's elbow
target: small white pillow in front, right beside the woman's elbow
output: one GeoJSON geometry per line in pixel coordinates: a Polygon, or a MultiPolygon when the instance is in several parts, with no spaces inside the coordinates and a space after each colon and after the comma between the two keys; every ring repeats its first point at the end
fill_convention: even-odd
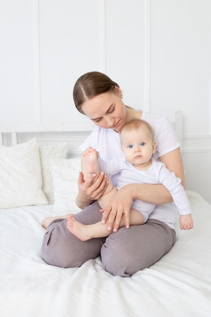
{"type": "Polygon", "coordinates": [[[78,192],[78,173],[80,158],[68,160],[51,160],[51,173],[54,189],[54,211],[80,211],[75,204],[78,192]]]}

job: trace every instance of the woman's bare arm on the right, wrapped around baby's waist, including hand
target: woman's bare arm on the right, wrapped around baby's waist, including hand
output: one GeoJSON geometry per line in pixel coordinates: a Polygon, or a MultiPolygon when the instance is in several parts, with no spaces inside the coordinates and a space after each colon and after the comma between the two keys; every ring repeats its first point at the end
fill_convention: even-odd
{"type": "MultiPolygon", "coordinates": [[[[160,161],[177,177],[181,178],[181,183],[185,186],[180,148],[164,154],[160,157],[160,161]]],[[[108,226],[112,227],[115,220],[114,228],[118,229],[123,214],[125,221],[129,221],[130,208],[135,198],[155,205],[173,202],[170,192],[162,184],[128,184],[119,189],[112,200],[108,202],[106,208],[102,210],[104,212],[102,222],[106,223],[109,215],[108,226]]]]}

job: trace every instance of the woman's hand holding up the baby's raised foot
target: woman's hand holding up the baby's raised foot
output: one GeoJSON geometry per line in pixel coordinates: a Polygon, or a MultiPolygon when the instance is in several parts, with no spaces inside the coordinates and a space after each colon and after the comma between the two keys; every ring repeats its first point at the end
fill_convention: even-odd
{"type": "Polygon", "coordinates": [[[93,182],[95,177],[96,174],[92,174],[85,181],[83,173],[79,172],[76,205],[81,209],[90,205],[93,200],[98,200],[106,189],[108,184],[106,175],[103,172],[99,173],[97,179],[93,182]]]}

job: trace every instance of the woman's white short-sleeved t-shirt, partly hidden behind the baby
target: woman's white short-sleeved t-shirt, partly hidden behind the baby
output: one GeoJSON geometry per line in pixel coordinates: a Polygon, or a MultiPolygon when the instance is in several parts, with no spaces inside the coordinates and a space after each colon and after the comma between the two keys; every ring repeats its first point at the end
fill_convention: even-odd
{"type": "MultiPolygon", "coordinates": [[[[153,129],[154,140],[156,141],[156,152],[153,154],[153,158],[156,161],[159,161],[160,156],[180,147],[176,132],[171,122],[165,116],[142,112],[140,118],[148,122],[153,129]]],[[[84,151],[89,146],[99,151],[104,161],[112,160],[114,157],[119,157],[119,159],[124,157],[119,134],[112,129],[95,127],[93,132],[81,144],[80,149],[84,151]]],[[[116,186],[118,174],[111,177],[111,179],[116,186]]],[[[175,204],[157,205],[149,218],[163,221],[171,228],[174,228],[176,219],[178,219],[175,204]]]]}

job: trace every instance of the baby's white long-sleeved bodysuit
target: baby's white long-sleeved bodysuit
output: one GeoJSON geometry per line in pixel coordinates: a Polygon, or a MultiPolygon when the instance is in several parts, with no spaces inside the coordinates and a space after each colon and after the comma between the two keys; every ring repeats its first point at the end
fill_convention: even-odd
{"type": "MultiPolygon", "coordinates": [[[[98,156],[98,164],[101,171],[108,176],[120,173],[117,189],[130,183],[163,184],[170,191],[179,214],[191,214],[190,203],[184,187],[181,185],[181,179],[176,177],[175,173],[170,172],[163,163],[156,162],[153,157],[151,162],[152,165],[147,171],[141,171],[136,169],[133,164],[127,162],[125,158],[121,160],[114,158],[109,162],[105,162],[98,156]]],[[[131,207],[140,211],[147,220],[155,205],[134,199],[131,207]]]]}

